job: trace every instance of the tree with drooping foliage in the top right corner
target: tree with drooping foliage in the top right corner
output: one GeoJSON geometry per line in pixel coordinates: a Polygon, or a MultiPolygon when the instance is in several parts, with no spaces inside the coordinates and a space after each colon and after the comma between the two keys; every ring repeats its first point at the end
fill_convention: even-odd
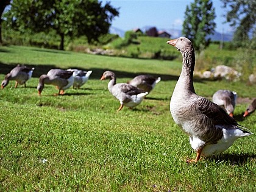
{"type": "Polygon", "coordinates": [[[236,27],[233,43],[236,46],[246,44],[250,34],[256,35],[256,1],[254,0],[221,0],[224,7],[229,7],[226,13],[226,21],[230,26],[236,27]]]}

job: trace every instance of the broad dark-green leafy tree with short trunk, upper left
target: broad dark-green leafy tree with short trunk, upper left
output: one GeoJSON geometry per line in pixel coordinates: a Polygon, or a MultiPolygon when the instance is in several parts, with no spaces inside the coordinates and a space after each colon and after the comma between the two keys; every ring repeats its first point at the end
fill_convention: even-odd
{"type": "Polygon", "coordinates": [[[64,38],[85,35],[88,43],[107,34],[117,9],[98,0],[13,0],[6,13],[9,26],[24,32],[49,32],[60,35],[60,49],[64,38]]]}

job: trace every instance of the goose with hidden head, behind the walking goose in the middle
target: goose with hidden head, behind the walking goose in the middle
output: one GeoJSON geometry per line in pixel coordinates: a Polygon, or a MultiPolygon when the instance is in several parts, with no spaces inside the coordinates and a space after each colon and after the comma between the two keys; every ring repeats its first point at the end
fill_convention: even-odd
{"type": "Polygon", "coordinates": [[[141,90],[147,91],[148,93],[152,91],[155,85],[160,82],[161,77],[155,78],[149,75],[140,75],[134,77],[132,80],[127,82],[127,84],[138,87],[141,90]]]}

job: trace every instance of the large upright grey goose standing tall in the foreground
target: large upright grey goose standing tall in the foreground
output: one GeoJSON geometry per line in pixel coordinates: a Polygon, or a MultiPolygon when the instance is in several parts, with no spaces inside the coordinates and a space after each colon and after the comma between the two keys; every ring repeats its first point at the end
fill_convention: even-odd
{"type": "Polygon", "coordinates": [[[172,93],[170,111],[175,123],[189,135],[191,147],[196,151],[196,158],[188,159],[187,162],[198,162],[201,155],[208,157],[226,151],[237,138],[251,135],[223,108],[195,93],[195,56],[191,41],[179,37],[166,43],[174,46],[183,57],[182,71],[172,93]]]}

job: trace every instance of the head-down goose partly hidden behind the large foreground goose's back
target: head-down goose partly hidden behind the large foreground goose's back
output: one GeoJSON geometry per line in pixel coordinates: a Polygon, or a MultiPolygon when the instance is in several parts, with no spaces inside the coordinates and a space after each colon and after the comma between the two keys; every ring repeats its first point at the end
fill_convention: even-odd
{"type": "Polygon", "coordinates": [[[218,90],[213,94],[213,102],[219,106],[224,106],[227,114],[233,117],[237,94],[235,91],[218,90]]]}

